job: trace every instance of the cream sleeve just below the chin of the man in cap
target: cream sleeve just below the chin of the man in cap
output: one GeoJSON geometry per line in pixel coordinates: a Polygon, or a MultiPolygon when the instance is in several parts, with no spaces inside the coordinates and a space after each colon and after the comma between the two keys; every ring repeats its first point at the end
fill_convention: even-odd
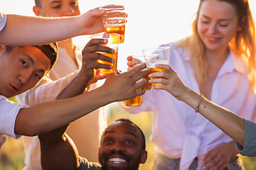
{"type": "Polygon", "coordinates": [[[23,94],[16,96],[16,100],[20,104],[26,106],[34,106],[38,103],[55,101],[55,98],[60,94],[70,82],[78,75],[80,70],[69,74],[67,77],[53,81],[49,77],[43,77],[40,83],[33,89],[26,91],[23,94]]]}

